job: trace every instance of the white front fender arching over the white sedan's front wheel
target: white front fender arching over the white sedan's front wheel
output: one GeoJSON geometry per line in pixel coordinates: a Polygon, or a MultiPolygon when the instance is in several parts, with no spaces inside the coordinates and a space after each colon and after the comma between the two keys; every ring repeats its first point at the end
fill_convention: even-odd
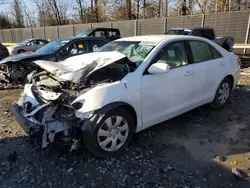
{"type": "Polygon", "coordinates": [[[141,90],[138,86],[139,85],[136,83],[124,81],[117,81],[96,86],[73,101],[73,103],[83,102],[82,108],[77,110],[76,113],[87,113],[100,109],[106,109],[109,104],[124,103],[130,105],[135,110],[137,115],[137,125],[140,126],[141,90]]]}

